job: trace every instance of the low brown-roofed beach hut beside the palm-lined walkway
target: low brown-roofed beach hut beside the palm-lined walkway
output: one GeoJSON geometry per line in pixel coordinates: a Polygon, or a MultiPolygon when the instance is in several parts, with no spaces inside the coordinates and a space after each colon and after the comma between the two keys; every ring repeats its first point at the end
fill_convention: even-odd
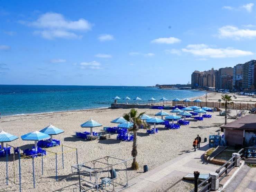
{"type": "Polygon", "coordinates": [[[228,146],[256,145],[256,115],[250,114],[226,125],[222,125],[225,140],[228,146]]]}

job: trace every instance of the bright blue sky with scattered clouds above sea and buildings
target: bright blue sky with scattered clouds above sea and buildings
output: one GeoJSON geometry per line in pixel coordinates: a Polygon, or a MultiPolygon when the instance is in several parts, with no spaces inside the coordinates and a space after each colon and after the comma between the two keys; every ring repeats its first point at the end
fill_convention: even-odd
{"type": "Polygon", "coordinates": [[[188,83],[255,59],[255,5],[0,0],[0,84],[188,83]]]}

